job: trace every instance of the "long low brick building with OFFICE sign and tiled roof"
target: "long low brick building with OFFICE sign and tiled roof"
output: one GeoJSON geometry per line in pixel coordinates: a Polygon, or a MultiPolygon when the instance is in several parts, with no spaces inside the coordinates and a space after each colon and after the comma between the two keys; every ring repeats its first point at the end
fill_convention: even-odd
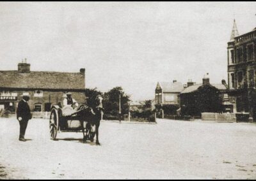
{"type": "Polygon", "coordinates": [[[62,102],[65,93],[72,92],[77,102],[85,101],[85,69],[77,73],[30,71],[22,62],[17,70],[0,71],[0,110],[15,112],[23,92],[29,92],[29,107],[33,112],[49,112],[51,105],[62,102]]]}

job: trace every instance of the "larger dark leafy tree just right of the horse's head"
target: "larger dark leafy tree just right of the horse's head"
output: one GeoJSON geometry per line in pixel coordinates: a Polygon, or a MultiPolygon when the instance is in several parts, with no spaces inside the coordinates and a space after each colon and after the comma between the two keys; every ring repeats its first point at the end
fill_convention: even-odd
{"type": "Polygon", "coordinates": [[[129,96],[125,94],[122,87],[114,87],[110,91],[104,93],[104,113],[111,115],[118,115],[119,112],[119,95],[121,96],[121,113],[129,112],[129,104],[130,101],[129,96]]]}

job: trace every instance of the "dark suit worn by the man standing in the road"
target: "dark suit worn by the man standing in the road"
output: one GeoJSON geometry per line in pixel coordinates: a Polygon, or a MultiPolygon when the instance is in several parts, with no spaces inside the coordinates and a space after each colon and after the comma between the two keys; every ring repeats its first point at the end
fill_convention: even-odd
{"type": "Polygon", "coordinates": [[[28,125],[28,120],[31,119],[32,115],[30,112],[29,105],[26,101],[23,99],[19,101],[18,108],[17,108],[17,119],[19,120],[19,117],[22,118],[22,120],[19,121],[20,124],[20,137],[24,138],[26,128],[28,125]]]}

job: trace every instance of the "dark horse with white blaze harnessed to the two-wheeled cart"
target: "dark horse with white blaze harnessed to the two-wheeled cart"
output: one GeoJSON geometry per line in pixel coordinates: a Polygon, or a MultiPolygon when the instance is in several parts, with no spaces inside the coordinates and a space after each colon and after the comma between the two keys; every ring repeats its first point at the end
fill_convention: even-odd
{"type": "Polygon", "coordinates": [[[81,120],[81,126],[83,127],[83,142],[86,143],[86,140],[90,140],[93,142],[93,139],[96,134],[96,144],[99,143],[99,126],[102,115],[102,97],[97,96],[95,99],[96,105],[94,108],[90,108],[86,105],[81,105],[78,108],[77,115],[83,117],[81,120]],[[86,126],[84,126],[84,122],[86,122],[86,126]],[[85,130],[85,132],[84,132],[85,130]]]}

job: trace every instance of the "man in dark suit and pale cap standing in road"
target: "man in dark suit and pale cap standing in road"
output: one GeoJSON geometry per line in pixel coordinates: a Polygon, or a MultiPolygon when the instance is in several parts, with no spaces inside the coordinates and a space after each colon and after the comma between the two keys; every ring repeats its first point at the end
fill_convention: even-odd
{"type": "Polygon", "coordinates": [[[32,118],[30,108],[28,105],[29,101],[29,94],[23,93],[22,100],[19,101],[18,108],[17,108],[17,119],[19,120],[20,124],[20,141],[26,141],[24,138],[26,128],[28,126],[28,120],[32,118]]]}

